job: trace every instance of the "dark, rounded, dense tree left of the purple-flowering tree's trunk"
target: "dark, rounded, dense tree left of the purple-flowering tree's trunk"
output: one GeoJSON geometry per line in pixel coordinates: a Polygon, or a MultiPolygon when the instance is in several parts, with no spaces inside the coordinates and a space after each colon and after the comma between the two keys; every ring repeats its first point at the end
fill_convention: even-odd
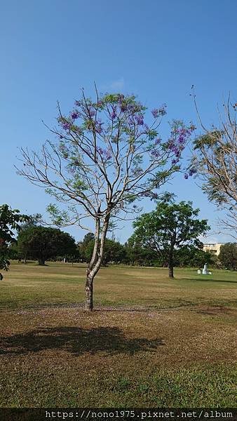
{"type": "Polygon", "coordinates": [[[48,258],[57,255],[76,253],[75,240],[67,232],[41,226],[23,229],[18,235],[18,247],[24,255],[38,260],[39,265],[45,265],[48,258]]]}

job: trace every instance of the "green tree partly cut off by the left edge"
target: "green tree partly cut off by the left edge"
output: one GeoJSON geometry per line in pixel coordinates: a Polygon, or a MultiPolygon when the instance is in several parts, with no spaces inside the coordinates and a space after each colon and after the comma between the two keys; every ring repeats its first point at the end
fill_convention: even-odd
{"type": "MultiPolygon", "coordinates": [[[[28,218],[27,215],[21,215],[18,209],[11,209],[6,204],[0,206],[0,269],[8,270],[10,246],[15,243],[14,230],[20,231],[20,222],[27,221],[28,218]]],[[[0,279],[2,278],[0,273],[0,279]]]]}

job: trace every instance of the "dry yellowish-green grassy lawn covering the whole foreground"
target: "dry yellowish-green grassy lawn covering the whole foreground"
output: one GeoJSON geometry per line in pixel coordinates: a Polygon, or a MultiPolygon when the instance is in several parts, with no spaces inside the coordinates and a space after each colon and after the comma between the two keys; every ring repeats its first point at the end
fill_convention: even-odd
{"type": "Polygon", "coordinates": [[[236,406],[237,275],[13,264],[1,281],[0,405],[236,406]]]}

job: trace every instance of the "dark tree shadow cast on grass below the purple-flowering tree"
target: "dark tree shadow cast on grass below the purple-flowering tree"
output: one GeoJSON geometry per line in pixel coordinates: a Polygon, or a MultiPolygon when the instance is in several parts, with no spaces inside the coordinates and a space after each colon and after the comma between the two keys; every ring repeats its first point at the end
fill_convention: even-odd
{"type": "Polygon", "coordinates": [[[155,352],[164,345],[161,339],[126,338],[116,327],[82,329],[74,327],[41,328],[27,333],[0,337],[0,354],[27,354],[48,349],[62,349],[74,355],[85,352],[97,354],[135,354],[155,352]]]}

